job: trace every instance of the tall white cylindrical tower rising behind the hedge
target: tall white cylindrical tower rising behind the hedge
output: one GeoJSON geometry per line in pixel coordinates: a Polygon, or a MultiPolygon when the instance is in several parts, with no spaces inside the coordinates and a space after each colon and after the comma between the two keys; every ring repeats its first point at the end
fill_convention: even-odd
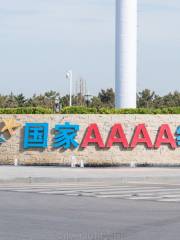
{"type": "Polygon", "coordinates": [[[136,108],[138,0],[116,0],[116,108],[136,108]]]}

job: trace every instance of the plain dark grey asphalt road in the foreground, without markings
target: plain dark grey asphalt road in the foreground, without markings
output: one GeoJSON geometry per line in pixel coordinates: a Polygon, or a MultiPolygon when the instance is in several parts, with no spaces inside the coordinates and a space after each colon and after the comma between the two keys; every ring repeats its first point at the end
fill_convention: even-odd
{"type": "Polygon", "coordinates": [[[0,191],[2,240],[179,240],[180,204],[0,191]]]}

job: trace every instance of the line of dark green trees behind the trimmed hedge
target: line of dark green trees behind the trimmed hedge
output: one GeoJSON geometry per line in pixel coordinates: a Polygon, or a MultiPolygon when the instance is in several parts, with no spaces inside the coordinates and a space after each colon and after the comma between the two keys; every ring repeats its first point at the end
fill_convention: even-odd
{"type": "MultiPolygon", "coordinates": [[[[69,95],[60,96],[56,91],[48,91],[44,94],[25,97],[22,93],[15,95],[0,95],[0,108],[17,108],[17,107],[46,107],[53,109],[55,101],[59,99],[62,108],[69,106],[69,95]]],[[[82,96],[81,94],[72,96],[73,106],[88,106],[97,109],[114,108],[115,93],[112,88],[101,90],[97,96],[82,96]]],[[[137,94],[138,108],[165,108],[179,107],[180,92],[175,91],[167,95],[160,96],[154,91],[145,89],[137,94]]]]}

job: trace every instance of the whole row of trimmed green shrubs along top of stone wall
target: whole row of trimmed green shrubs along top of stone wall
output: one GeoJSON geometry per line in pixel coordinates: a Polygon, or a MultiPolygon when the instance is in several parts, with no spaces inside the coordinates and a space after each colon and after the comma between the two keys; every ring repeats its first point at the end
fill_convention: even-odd
{"type": "MultiPolygon", "coordinates": [[[[0,108],[0,114],[53,114],[53,110],[42,107],[0,108]]],[[[61,114],[180,114],[180,107],[161,109],[96,109],[87,107],[66,107],[61,110],[61,114]]]]}

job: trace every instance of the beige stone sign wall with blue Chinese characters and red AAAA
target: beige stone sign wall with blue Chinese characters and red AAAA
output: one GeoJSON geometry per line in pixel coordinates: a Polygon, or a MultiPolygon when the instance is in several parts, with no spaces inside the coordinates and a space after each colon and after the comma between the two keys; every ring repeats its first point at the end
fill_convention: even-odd
{"type": "Polygon", "coordinates": [[[0,164],[180,164],[180,115],[0,115],[0,164]]]}

